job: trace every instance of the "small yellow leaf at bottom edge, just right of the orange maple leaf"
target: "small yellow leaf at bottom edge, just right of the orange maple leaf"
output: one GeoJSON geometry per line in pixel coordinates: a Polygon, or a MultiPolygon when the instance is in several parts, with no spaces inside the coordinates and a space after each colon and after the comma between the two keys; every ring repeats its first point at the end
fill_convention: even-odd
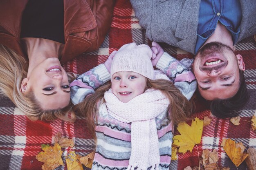
{"type": "Polygon", "coordinates": [[[83,166],[77,159],[75,151],[67,152],[66,162],[67,170],[83,170],[83,166]]]}

